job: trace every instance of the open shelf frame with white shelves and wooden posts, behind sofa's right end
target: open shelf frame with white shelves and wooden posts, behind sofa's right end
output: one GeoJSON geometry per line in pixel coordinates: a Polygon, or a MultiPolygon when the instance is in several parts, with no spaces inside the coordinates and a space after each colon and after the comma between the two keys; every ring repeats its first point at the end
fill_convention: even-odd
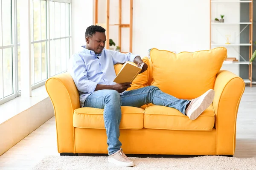
{"type": "MultiPolygon", "coordinates": [[[[238,1],[217,1],[217,0],[210,0],[210,20],[209,20],[209,23],[210,23],[210,49],[212,48],[212,46],[249,46],[249,61],[252,57],[252,54],[253,54],[253,0],[247,0],[247,1],[241,1],[241,0],[238,0],[238,1]],[[212,3],[249,3],[249,23],[213,23],[212,22],[212,3]],[[248,24],[249,25],[249,43],[244,43],[244,44],[212,44],[212,25],[228,25],[228,24],[248,24]]],[[[240,55],[241,56],[241,55],[240,55]]],[[[246,62],[247,63],[247,62],[246,62]]],[[[249,83],[250,84],[250,87],[252,87],[252,69],[253,67],[253,64],[252,63],[249,63],[249,76],[248,78],[249,79],[246,79],[246,81],[244,81],[245,83],[249,83]]]]}

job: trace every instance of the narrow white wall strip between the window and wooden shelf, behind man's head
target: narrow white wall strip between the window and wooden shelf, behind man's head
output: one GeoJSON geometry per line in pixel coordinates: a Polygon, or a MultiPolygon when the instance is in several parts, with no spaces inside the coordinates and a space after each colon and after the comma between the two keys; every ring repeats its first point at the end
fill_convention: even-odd
{"type": "Polygon", "coordinates": [[[85,30],[93,25],[93,1],[72,0],[71,54],[79,51],[81,45],[85,45],[85,30]]]}

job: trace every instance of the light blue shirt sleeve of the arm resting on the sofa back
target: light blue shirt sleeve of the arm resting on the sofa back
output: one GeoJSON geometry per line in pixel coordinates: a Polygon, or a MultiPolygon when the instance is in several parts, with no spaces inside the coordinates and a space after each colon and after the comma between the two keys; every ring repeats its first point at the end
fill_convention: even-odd
{"type": "Polygon", "coordinates": [[[120,53],[118,51],[108,50],[108,53],[112,56],[113,64],[122,64],[127,61],[134,62],[135,57],[139,56],[131,53],[120,53]]]}

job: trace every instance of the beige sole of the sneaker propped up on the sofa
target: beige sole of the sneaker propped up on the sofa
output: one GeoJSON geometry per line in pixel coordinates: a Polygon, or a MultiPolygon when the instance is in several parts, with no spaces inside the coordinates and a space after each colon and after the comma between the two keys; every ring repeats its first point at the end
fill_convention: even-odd
{"type": "Polygon", "coordinates": [[[195,120],[196,118],[198,118],[198,116],[201,115],[201,113],[205,111],[205,109],[207,109],[212,104],[215,96],[214,90],[208,90],[205,94],[206,95],[204,96],[204,99],[201,101],[200,105],[195,108],[195,111],[191,113],[189,119],[195,120]]]}

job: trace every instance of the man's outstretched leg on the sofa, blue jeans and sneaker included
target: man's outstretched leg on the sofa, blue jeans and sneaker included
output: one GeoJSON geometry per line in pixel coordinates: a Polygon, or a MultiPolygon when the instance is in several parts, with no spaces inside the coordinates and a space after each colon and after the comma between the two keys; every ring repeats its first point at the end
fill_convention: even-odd
{"type": "Polygon", "coordinates": [[[214,91],[208,90],[196,99],[184,100],[177,99],[174,96],[163,93],[155,86],[147,86],[137,90],[127,91],[122,96],[123,106],[140,107],[142,105],[153,103],[154,105],[167,106],[175,108],[189,119],[195,120],[200,114],[211,105],[214,98],[214,91]]]}

